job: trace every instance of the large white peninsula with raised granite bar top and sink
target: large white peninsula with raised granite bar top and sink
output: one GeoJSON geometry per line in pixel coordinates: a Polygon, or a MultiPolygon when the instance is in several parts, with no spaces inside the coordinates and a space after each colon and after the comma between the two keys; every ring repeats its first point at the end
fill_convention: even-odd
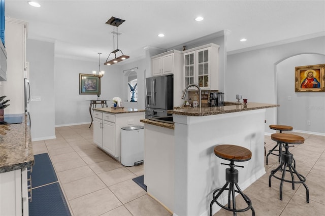
{"type": "MultiPolygon", "coordinates": [[[[142,120],[145,123],[144,181],[148,194],[173,215],[208,215],[212,192],[225,183],[227,167],[220,163],[228,163],[214,155],[214,147],[231,144],[252,152],[251,160],[238,163],[244,166],[239,168],[239,186],[244,190],[265,173],[265,112],[277,106],[250,102],[174,109],[168,111],[173,114],[174,129],[142,120]]],[[[226,203],[227,198],[222,199],[226,203]]],[[[220,207],[214,205],[213,209],[215,213],[220,207]]]]}

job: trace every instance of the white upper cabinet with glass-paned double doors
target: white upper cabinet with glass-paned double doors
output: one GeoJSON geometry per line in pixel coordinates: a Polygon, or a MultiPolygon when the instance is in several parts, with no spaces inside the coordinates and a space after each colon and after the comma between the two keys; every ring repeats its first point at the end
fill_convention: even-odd
{"type": "Polygon", "coordinates": [[[189,84],[197,84],[202,89],[217,90],[219,45],[207,44],[185,50],[183,54],[183,89],[189,84]]]}

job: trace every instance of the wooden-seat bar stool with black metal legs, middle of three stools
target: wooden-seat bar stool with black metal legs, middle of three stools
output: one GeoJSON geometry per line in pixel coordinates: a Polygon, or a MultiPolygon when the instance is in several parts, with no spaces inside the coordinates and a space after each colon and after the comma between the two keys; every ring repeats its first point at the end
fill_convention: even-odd
{"type": "Polygon", "coordinates": [[[302,136],[294,135],[294,134],[285,134],[285,133],[273,133],[271,134],[271,139],[274,141],[277,141],[282,145],[284,144],[285,151],[281,153],[281,164],[276,168],[271,171],[271,174],[269,176],[269,187],[271,187],[271,178],[272,176],[280,179],[280,200],[282,200],[282,187],[283,187],[283,182],[288,182],[292,184],[293,190],[295,190],[295,184],[303,184],[304,187],[306,188],[306,200],[309,202],[309,189],[306,185],[306,178],[299,174],[296,170],[296,167],[293,166],[293,159],[294,155],[289,152],[289,144],[302,144],[304,143],[305,139],[302,136]],[[288,170],[287,170],[288,168],[288,170]],[[282,171],[282,177],[275,176],[274,174],[277,171],[282,171]],[[291,175],[291,180],[285,179],[285,173],[290,172],[291,175]],[[294,174],[299,178],[300,181],[295,181],[294,174]]]}

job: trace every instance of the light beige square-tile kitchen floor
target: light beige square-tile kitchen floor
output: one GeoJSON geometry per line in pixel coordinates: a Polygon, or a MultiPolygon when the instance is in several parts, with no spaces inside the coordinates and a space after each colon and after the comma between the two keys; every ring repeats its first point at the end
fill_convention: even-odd
{"type": "MultiPolygon", "coordinates": [[[[56,139],[32,142],[34,154],[49,153],[71,213],[76,216],[171,215],[132,181],[143,175],[143,165],[124,167],[112,159],[96,147],[92,127],[88,127],[57,127],[56,139]]],[[[305,188],[301,185],[292,190],[285,183],[282,201],[277,179],[272,179],[269,188],[269,173],[278,165],[277,157],[271,155],[269,164],[265,165],[266,174],[244,190],[252,200],[256,215],[322,215],[325,212],[325,136],[294,134],[306,139],[303,145],[290,148],[290,152],[294,154],[298,172],[307,178],[310,202],[306,202],[305,188]]],[[[276,144],[270,136],[265,136],[265,141],[267,151],[276,144]]],[[[241,204],[239,200],[238,206],[241,204]]],[[[233,214],[221,209],[214,215],[233,214]]],[[[237,215],[251,215],[251,211],[237,215]]]]}

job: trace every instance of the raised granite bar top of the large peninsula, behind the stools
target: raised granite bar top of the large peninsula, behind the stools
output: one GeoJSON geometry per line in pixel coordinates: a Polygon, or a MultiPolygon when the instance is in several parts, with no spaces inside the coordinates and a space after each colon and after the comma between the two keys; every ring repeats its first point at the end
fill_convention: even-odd
{"type": "Polygon", "coordinates": [[[249,110],[259,110],[271,107],[277,107],[277,104],[270,103],[255,103],[249,102],[244,104],[242,102],[226,102],[225,106],[213,106],[213,107],[176,107],[174,110],[167,111],[168,114],[177,114],[183,116],[211,116],[225,113],[236,113],[249,110]]]}

